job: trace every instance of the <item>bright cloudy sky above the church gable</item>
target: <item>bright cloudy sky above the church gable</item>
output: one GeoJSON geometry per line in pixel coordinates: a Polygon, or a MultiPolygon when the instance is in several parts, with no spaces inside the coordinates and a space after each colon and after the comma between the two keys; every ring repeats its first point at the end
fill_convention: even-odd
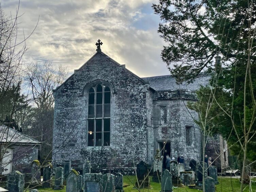
{"type": "MultiPolygon", "coordinates": [[[[2,0],[6,15],[14,15],[18,0],[2,0]]],[[[160,53],[157,0],[20,0],[19,38],[28,36],[24,62],[51,60],[71,71],[85,63],[100,38],[102,52],[140,77],[169,75],[160,53]]]]}

